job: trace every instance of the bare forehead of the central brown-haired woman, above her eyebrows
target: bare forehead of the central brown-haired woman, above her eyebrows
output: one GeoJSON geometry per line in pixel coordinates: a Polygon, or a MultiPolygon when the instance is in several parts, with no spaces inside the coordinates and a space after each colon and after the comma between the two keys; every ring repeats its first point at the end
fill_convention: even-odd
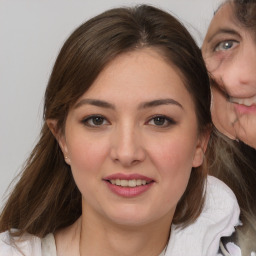
{"type": "Polygon", "coordinates": [[[140,49],[113,59],[82,97],[119,99],[118,102],[124,103],[165,98],[166,95],[181,101],[186,98],[188,102],[192,98],[174,64],[155,50],[140,49]]]}

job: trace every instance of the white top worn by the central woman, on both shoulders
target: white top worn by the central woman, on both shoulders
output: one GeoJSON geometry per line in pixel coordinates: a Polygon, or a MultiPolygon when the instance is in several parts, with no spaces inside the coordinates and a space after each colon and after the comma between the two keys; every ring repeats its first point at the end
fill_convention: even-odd
{"type": "MultiPolygon", "coordinates": [[[[220,238],[234,232],[240,210],[234,193],[222,181],[211,176],[207,179],[205,199],[203,211],[193,224],[182,230],[172,225],[169,243],[160,256],[218,255],[220,238]]],[[[26,234],[22,240],[18,239],[12,238],[9,232],[1,233],[0,255],[57,256],[53,234],[43,239],[26,234]]]]}

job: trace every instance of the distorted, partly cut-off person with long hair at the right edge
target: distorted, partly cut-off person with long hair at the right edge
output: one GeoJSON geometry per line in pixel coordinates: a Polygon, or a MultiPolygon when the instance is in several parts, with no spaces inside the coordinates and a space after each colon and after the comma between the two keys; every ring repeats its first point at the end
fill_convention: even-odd
{"type": "Polygon", "coordinates": [[[215,155],[211,173],[238,198],[243,226],[225,243],[235,242],[243,255],[256,251],[255,32],[256,2],[226,1],[215,13],[202,47],[212,78],[213,122],[226,135],[217,142],[219,151],[209,152],[215,155]]]}

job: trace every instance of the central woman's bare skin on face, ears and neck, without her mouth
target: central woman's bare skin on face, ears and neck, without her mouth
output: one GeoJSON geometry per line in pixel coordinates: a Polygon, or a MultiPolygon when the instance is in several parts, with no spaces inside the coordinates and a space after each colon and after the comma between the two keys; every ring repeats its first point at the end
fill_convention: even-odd
{"type": "Polygon", "coordinates": [[[153,49],[122,54],[69,111],[65,134],[48,125],[82,193],[81,218],[55,234],[59,255],[159,255],[208,139],[176,68],[153,49]],[[105,181],[116,173],[153,182],[126,197],[105,181]]]}

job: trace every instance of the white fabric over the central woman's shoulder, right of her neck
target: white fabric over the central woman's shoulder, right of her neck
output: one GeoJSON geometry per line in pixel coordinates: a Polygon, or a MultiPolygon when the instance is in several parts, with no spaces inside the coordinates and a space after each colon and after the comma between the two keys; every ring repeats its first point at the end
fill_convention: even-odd
{"type": "Polygon", "coordinates": [[[221,237],[230,236],[239,224],[240,209],[232,190],[212,176],[205,188],[202,213],[184,229],[172,226],[166,255],[216,256],[221,237]]]}

